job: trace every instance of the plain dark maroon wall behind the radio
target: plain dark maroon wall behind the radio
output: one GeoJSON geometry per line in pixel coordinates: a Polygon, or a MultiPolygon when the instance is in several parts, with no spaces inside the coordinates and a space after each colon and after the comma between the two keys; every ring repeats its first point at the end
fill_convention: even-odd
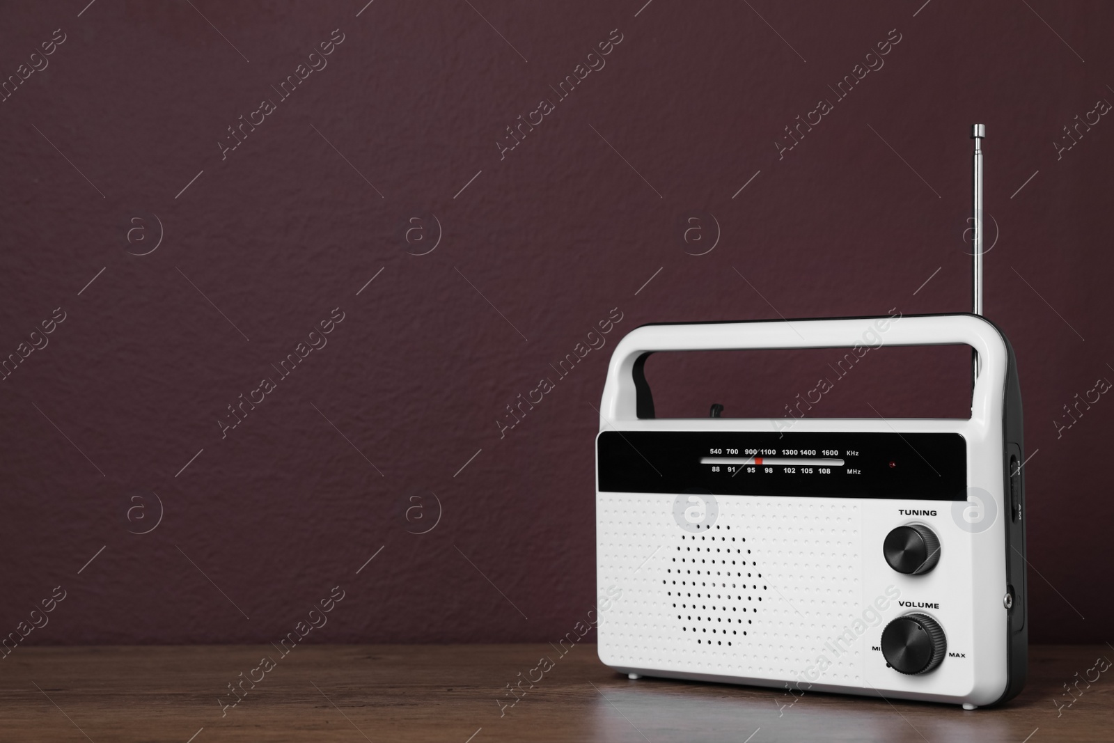
{"type": "MultiPolygon", "coordinates": [[[[0,382],[0,634],[61,586],[27,643],[263,642],[336,585],[321,641],[564,634],[594,603],[593,407],[617,339],[966,310],[983,121],[987,315],[1017,350],[1033,454],[1033,637],[1111,636],[1114,401],[1054,421],[1114,379],[1114,121],[1053,144],[1114,100],[1108,4],[85,4],[0,9],[0,72],[48,65],[0,102],[0,353],[46,343],[0,382]],[[333,29],[326,67],[281,98],[333,29]],[[222,153],[241,115],[263,120],[222,153]],[[334,307],[328,345],[281,378],[334,307]],[[500,437],[505,405],[609,315],[607,345],[500,437]]],[[[779,414],[812,353],[649,373],[678,413],[779,414]]],[[[823,412],[864,391],[891,416],[961,412],[965,360],[879,353],[823,412]]]]}

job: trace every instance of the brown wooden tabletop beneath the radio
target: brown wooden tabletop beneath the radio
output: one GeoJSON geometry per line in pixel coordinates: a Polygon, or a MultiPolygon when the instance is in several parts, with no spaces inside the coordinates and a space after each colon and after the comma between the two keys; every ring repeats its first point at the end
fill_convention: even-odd
{"type": "Polygon", "coordinates": [[[1114,657],[1114,651],[1035,646],[1029,683],[1017,700],[964,712],[629,681],[603,666],[594,645],[564,657],[546,644],[306,645],[285,657],[268,645],[17,647],[0,661],[0,740],[1112,741],[1114,669],[1089,687],[1079,681],[1071,706],[1063,686],[1088,675],[1098,656],[1114,657]],[[270,671],[260,666],[264,655],[275,661],[270,671]],[[500,708],[497,700],[511,698],[506,685],[541,656],[553,658],[553,667],[515,706],[500,708]],[[246,695],[233,697],[228,684],[248,676],[261,681],[254,688],[243,681],[246,695]],[[222,707],[234,698],[241,698],[236,706],[222,707]]]}

